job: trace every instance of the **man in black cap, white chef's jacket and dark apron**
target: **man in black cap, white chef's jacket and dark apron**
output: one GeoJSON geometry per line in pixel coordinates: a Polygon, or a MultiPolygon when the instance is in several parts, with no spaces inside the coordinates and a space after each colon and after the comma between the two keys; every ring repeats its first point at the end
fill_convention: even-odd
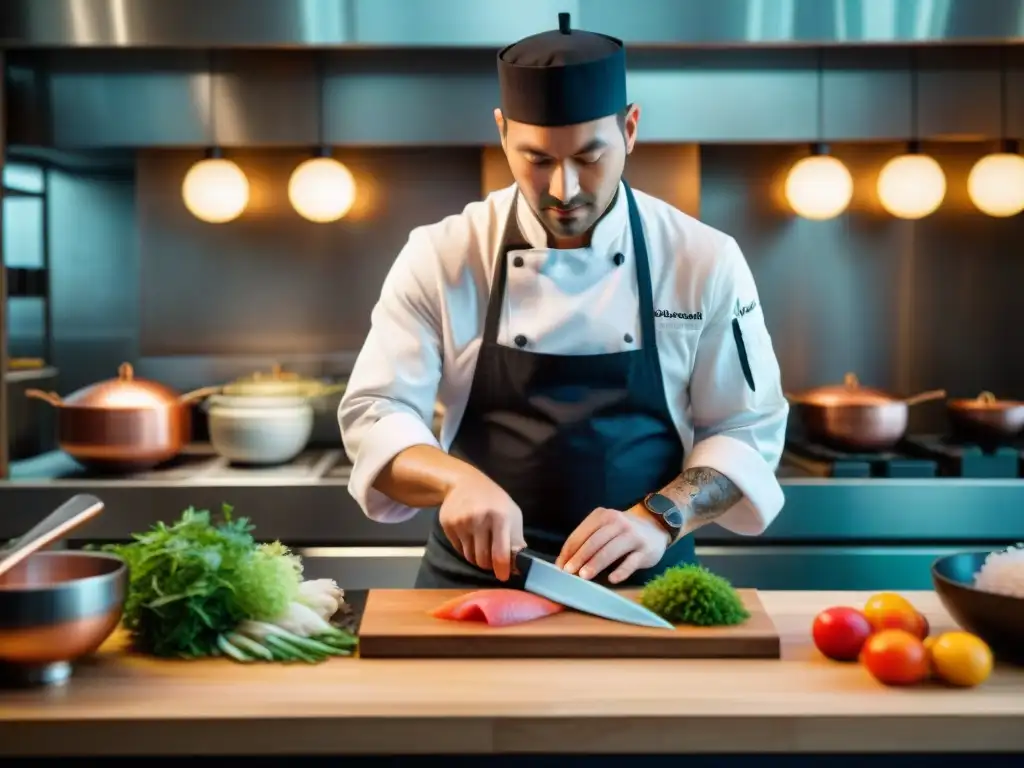
{"type": "Polygon", "coordinates": [[[500,586],[523,546],[637,585],[778,514],[778,364],[736,241],[623,178],[622,42],[562,13],[498,75],[515,183],[398,254],[338,411],[348,488],[382,523],[438,509],[418,587],[500,586]]]}

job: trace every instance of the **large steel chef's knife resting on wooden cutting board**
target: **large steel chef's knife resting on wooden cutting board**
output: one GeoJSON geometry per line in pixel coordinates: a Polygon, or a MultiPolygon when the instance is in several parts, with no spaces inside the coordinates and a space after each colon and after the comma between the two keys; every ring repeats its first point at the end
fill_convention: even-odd
{"type": "Polygon", "coordinates": [[[666,630],[676,629],[670,622],[634,600],[564,571],[530,553],[529,550],[519,550],[514,554],[514,558],[516,572],[524,578],[523,589],[527,592],[612,622],[666,630]]]}

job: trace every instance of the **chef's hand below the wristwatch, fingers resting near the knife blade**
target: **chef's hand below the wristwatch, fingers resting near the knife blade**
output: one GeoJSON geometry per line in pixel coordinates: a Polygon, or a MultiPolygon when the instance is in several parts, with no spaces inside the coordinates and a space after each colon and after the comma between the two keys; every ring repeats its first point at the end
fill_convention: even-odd
{"type": "Polygon", "coordinates": [[[622,559],[608,575],[609,582],[617,584],[639,568],[656,565],[670,543],[669,532],[646,511],[599,507],[569,535],[555,564],[583,579],[593,579],[622,559]]]}

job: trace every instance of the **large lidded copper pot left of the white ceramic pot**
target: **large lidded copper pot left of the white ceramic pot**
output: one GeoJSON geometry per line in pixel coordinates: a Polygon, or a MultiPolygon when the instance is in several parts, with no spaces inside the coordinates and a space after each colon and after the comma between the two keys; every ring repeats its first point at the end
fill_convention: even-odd
{"type": "Polygon", "coordinates": [[[170,387],[136,379],[128,362],[108,379],[61,399],[29,389],[26,395],[57,409],[60,449],[88,467],[147,469],[177,456],[191,438],[190,403],[210,391],[179,395],[170,387]]]}

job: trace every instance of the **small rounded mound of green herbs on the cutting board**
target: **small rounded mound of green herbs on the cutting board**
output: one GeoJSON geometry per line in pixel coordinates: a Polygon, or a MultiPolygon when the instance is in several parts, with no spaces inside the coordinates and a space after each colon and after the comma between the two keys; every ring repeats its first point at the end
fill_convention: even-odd
{"type": "Polygon", "coordinates": [[[640,603],[673,624],[715,627],[751,617],[739,593],[701,565],[676,565],[649,581],[640,603]]]}

